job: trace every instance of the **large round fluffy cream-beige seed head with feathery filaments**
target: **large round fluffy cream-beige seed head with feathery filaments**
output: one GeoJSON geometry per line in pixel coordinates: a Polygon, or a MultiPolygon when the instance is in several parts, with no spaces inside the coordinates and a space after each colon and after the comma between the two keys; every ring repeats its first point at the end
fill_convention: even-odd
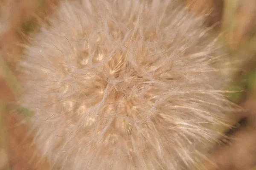
{"type": "Polygon", "coordinates": [[[20,62],[20,102],[54,169],[199,166],[229,108],[201,18],[173,0],[81,0],[49,23],[20,62]]]}

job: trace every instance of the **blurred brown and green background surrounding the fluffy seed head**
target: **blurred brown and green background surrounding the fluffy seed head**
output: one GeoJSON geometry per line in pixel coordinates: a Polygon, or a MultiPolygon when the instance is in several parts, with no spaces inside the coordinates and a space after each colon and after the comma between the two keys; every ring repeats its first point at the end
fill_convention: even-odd
{"type": "MultiPolygon", "coordinates": [[[[221,36],[227,59],[235,63],[233,70],[224,73],[233,79],[228,88],[236,91],[228,97],[245,108],[230,117],[234,129],[223,129],[228,138],[215,146],[210,156],[213,164],[205,167],[256,170],[256,0],[183,2],[191,12],[207,15],[212,34],[221,36]]],[[[30,115],[29,110],[19,109],[14,114],[10,108],[15,107],[12,102],[20,94],[14,69],[23,48],[19,42],[24,42],[26,34],[56,10],[53,5],[58,3],[58,0],[0,0],[0,170],[49,170],[47,159],[41,158],[28,137],[28,129],[20,124],[24,116],[30,115]]]]}

